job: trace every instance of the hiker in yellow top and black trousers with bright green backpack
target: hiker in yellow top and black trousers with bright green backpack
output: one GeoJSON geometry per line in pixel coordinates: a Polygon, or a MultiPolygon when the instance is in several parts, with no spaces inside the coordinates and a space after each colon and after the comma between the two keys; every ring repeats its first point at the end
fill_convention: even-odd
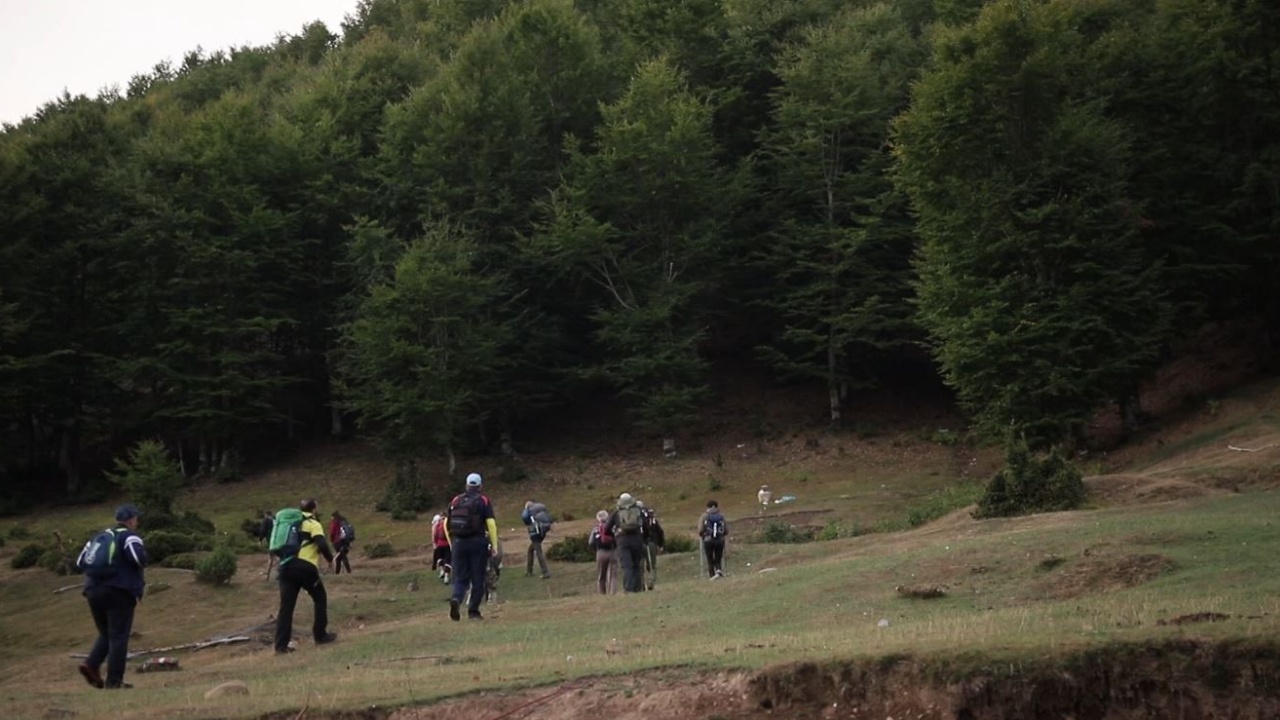
{"type": "Polygon", "coordinates": [[[311,623],[311,637],[316,644],[332,643],[338,639],[329,632],[329,596],[320,579],[320,556],[333,562],[333,546],[325,536],[324,525],[316,520],[316,501],[306,498],[298,503],[301,518],[287,515],[284,510],[275,514],[276,528],[271,533],[271,546],[280,544],[282,538],[296,538],[278,548],[280,570],[280,610],[275,614],[275,652],[293,652],[289,641],[293,639],[293,609],[298,603],[298,592],[307,591],[315,605],[315,619],[311,623]],[[294,544],[294,542],[297,544],[294,544]]]}

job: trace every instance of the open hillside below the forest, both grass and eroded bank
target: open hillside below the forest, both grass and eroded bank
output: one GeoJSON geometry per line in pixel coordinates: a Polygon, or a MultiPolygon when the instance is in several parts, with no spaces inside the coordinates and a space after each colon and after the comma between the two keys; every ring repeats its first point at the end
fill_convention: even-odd
{"type": "MultiPolygon", "coordinates": [[[[1071,708],[1082,717],[1268,717],[1280,708],[1267,660],[1280,652],[1280,579],[1270,571],[1280,542],[1277,410],[1280,382],[1242,386],[1183,405],[1117,451],[1082,456],[1085,510],[978,521],[961,509],[914,529],[905,529],[913,510],[945,502],[938,491],[982,479],[998,461],[940,432],[956,429],[941,407],[915,427],[886,415],[835,434],[805,425],[754,434],[737,421],[741,437],[708,436],[673,460],[545,447],[520,459],[530,479],[486,486],[509,555],[483,628],[447,620],[445,593],[425,571],[425,521],[372,512],[387,464],[358,445],[314,450],[239,484],[195,487],[179,505],[236,533],[259,507],[315,495],[321,511],[340,507],[357,521],[360,544],[392,543],[393,557],[367,560],[357,548],[353,575],[325,577],[335,646],[303,643],[287,659],[259,642],[172,653],[183,671],[131,669],[138,691],[105,698],[68,659],[91,634],[77,593],[52,592],[74,579],[5,562],[0,689],[18,717],[407,720],[535,708],[557,720],[1051,717],[1071,708]],[[795,500],[762,518],[760,483],[795,500]],[[673,533],[689,533],[717,497],[736,538],[730,577],[699,579],[691,553],[663,556],[658,589],[637,596],[591,594],[585,565],[553,564],[545,582],[522,577],[515,512],[524,498],[572,518],[554,541],[585,532],[581,518],[622,491],[657,506],[673,533]],[[771,521],[841,537],[750,542],[771,521]],[[911,597],[931,588],[943,597],[911,597]],[[205,700],[225,680],[243,680],[250,694],[205,700]],[[1175,706],[1185,711],[1169,714],[1175,706]]],[[[498,471],[492,461],[468,466],[498,471]]],[[[6,519],[0,534],[13,538],[19,525],[32,537],[77,534],[108,514],[108,505],[59,509],[6,519]]],[[[9,539],[4,559],[18,544],[9,539]]],[[[242,556],[232,585],[218,589],[152,570],[132,650],[260,628],[275,610],[260,562],[242,556]]],[[[308,620],[303,602],[296,626],[308,620]]]]}

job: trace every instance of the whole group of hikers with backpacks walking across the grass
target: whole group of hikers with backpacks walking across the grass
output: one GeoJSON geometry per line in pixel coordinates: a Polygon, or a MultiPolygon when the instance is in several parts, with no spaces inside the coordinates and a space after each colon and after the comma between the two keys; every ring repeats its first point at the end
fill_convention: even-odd
{"type": "MultiPolygon", "coordinates": [[[[480,606],[493,592],[497,573],[502,565],[502,547],[493,502],[481,492],[484,479],[479,473],[466,478],[465,491],[454,496],[448,509],[431,521],[431,569],[452,587],[449,619],[461,620],[466,606],[468,620],[483,620],[480,606]]],[[[302,500],[298,506],[265,512],[259,529],[260,539],[268,541],[271,564],[278,560],[276,582],[280,605],[275,620],[274,648],[276,653],[294,651],[293,611],[298,594],[303,591],[315,606],[311,634],[316,644],[334,642],[338,635],[329,630],[328,594],[320,577],[320,559],[340,574],[351,573],[348,553],[356,539],[351,521],[334,511],[329,527],[317,519],[319,503],[314,498],[302,500]]],[[[88,601],[97,638],[84,662],[81,675],[95,688],[129,688],[124,682],[124,665],[129,651],[133,612],[142,600],[146,546],[137,533],[140,511],[133,505],[115,510],[115,527],[95,534],[77,557],[77,568],[84,573],[84,597],[88,601]],[[106,662],[106,675],[101,666],[106,662]]],[[[525,555],[525,575],[532,577],[534,562],[543,579],[550,578],[543,541],[554,520],[541,502],[529,500],[521,512],[521,521],[529,532],[525,555]]],[[[705,553],[708,577],[723,577],[724,538],[727,523],[714,500],[698,519],[698,534],[705,553]]],[[[588,536],[588,544],[595,551],[596,589],[604,594],[617,592],[621,570],[623,592],[654,589],[658,577],[658,553],[663,552],[666,533],[658,514],[635,500],[630,493],[618,496],[617,506],[596,512],[596,523],[588,536]]]]}

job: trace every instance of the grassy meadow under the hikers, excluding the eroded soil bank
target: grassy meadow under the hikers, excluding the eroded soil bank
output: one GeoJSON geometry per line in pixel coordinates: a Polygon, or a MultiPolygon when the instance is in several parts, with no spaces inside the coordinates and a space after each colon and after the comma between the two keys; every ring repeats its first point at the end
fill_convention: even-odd
{"type": "MultiPolygon", "coordinates": [[[[55,591],[77,579],[8,564],[23,542],[8,539],[14,533],[61,530],[82,542],[109,520],[111,506],[4,519],[0,697],[13,717],[58,710],[256,717],[302,708],[314,717],[650,669],[675,669],[698,683],[708,673],[797,660],[911,655],[963,673],[1116,642],[1277,638],[1277,398],[1271,383],[1192,409],[1120,452],[1084,457],[1094,473],[1087,509],[1002,520],[947,512],[969,495],[946,488],[972,487],[998,457],[938,442],[929,428],[726,441],[669,461],[544,452],[522,460],[529,480],[486,483],[507,568],[484,623],[448,620],[448,592],[426,571],[429,515],[393,523],[374,512],[389,478],[385,462],[358,446],[312,451],[242,483],[189,488],[179,509],[228,533],[239,533],[241,520],[261,507],[303,496],[317,497],[325,516],[339,509],[352,518],[355,574],[325,575],[339,641],[311,644],[303,596],[298,652],[276,657],[256,641],[174,652],[182,671],[138,674],[131,664],[127,679],[137,688],[129,693],[93,692],[76,673],[70,656],[87,652],[92,623],[77,591],[55,591]],[[762,518],[754,502],[762,483],[795,500],[762,518]],[[691,536],[705,500],[719,500],[731,527],[728,577],[700,578],[694,553],[662,556],[657,591],[636,596],[593,593],[586,564],[556,562],[548,580],[525,577],[524,500],[573,518],[556,527],[550,544],[585,533],[585,518],[623,491],[658,507],[668,534],[691,536]],[[840,537],[745,542],[769,521],[835,528],[840,537]],[[374,542],[392,543],[396,556],[364,559],[361,546],[374,542]],[[913,597],[924,591],[942,597],[913,597]],[[1203,614],[1217,621],[1190,621],[1203,614]],[[250,694],[205,698],[227,680],[244,682],[250,694]]],[[[498,473],[485,459],[476,468],[498,473]]],[[[197,584],[183,570],[148,570],[152,591],[137,611],[131,650],[265,623],[276,597],[262,565],[261,555],[241,556],[223,588],[197,584]]]]}

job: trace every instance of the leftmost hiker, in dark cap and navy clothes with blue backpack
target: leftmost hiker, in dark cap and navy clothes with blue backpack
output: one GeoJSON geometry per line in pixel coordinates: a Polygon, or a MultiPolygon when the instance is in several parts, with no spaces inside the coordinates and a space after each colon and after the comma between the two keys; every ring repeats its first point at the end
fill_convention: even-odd
{"type": "Polygon", "coordinates": [[[84,680],[95,688],[132,688],[124,682],[124,662],[129,657],[133,611],[146,588],[143,569],[147,548],[138,533],[138,509],[115,509],[115,527],[93,536],[76,559],[84,573],[84,598],[93,615],[97,639],[79,665],[84,680]],[[106,660],[106,679],[101,675],[106,660]]]}

